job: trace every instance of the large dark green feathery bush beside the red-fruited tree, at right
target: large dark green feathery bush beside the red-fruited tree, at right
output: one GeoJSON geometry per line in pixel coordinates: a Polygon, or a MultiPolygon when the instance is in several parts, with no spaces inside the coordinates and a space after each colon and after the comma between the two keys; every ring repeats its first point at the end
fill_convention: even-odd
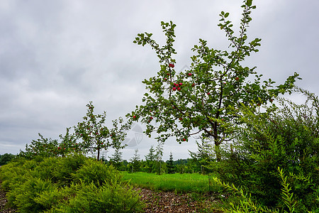
{"type": "Polygon", "coordinates": [[[252,199],[266,207],[288,211],[282,197],[281,177],[298,204],[295,212],[319,211],[319,101],[303,89],[306,103],[298,105],[278,99],[279,107],[265,112],[242,109],[240,134],[224,158],[216,164],[218,178],[241,186],[252,199]]]}

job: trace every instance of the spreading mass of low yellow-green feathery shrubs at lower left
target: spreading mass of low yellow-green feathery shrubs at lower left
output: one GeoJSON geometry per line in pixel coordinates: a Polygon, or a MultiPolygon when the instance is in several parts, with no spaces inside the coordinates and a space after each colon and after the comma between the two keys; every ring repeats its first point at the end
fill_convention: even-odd
{"type": "Polygon", "coordinates": [[[19,158],[0,168],[18,212],[141,212],[138,192],[112,166],[86,158],[19,158]]]}

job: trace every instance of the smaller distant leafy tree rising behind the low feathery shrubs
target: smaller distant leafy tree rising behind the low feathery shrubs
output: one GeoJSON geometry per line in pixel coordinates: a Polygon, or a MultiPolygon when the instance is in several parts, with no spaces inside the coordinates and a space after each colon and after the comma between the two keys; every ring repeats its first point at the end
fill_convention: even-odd
{"type": "Polygon", "coordinates": [[[82,139],[81,147],[86,152],[94,153],[97,151],[97,160],[99,160],[101,150],[108,148],[124,148],[121,143],[124,141],[126,131],[129,129],[128,124],[123,124],[123,119],[113,121],[113,128],[108,129],[105,126],[106,111],[103,114],[94,114],[92,102],[86,104],[88,107],[84,121],[74,126],[74,132],[77,138],[82,139]]]}

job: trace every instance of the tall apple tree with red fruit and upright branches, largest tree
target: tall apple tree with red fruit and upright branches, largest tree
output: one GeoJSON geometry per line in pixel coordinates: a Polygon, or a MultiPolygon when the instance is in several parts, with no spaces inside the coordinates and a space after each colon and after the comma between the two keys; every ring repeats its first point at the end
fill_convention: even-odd
{"type": "Polygon", "coordinates": [[[233,31],[233,23],[228,20],[229,13],[222,11],[218,26],[225,31],[230,42],[228,50],[209,48],[206,40],[199,39],[199,45],[192,49],[195,55],[191,57],[191,68],[184,72],[174,70],[176,25],[172,21],[162,22],[167,36],[167,43],[162,47],[151,38],[152,33],[139,33],[134,43],[147,44],[155,50],[160,70],[156,76],[143,81],[148,90],[142,99],[145,104],[137,106],[127,116],[147,124],[145,133],[148,136],[156,131],[159,141],[175,136],[181,143],[196,134],[211,137],[217,151],[216,158],[220,160],[218,148],[223,141],[230,139],[232,130],[228,127],[236,121],[236,109],[241,104],[250,103],[258,107],[272,102],[279,94],[290,93],[298,77],[295,73],[284,84],[274,87],[275,82],[271,79],[261,82],[262,75],[257,75],[256,67],[242,65],[245,58],[257,52],[260,46],[261,39],[248,41],[247,36],[247,28],[252,21],[250,13],[255,8],[252,0],[244,1],[239,35],[233,31]],[[159,122],[159,126],[155,127],[152,121],[159,122]]]}

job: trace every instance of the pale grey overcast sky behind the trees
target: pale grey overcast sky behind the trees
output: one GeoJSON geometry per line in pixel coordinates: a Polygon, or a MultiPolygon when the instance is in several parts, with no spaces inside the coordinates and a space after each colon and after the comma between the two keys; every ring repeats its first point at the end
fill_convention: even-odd
{"type": "MultiPolygon", "coordinates": [[[[153,33],[164,43],[160,21],[177,24],[176,70],[189,65],[198,38],[224,50],[228,40],[218,28],[220,11],[237,27],[240,0],[0,1],[0,154],[16,154],[42,133],[58,138],[86,114],[106,111],[108,124],[142,104],[142,80],[159,70],[149,47],[133,44],[137,33],[153,33]]],[[[259,53],[247,60],[257,72],[282,83],[298,72],[297,85],[319,94],[319,1],[258,0],[248,35],[262,38],[259,53]]],[[[293,97],[298,98],[298,97],[293,97]]],[[[139,125],[139,124],[138,124],[139,125]]],[[[142,126],[142,125],[140,125],[142,126]]],[[[128,139],[135,136],[129,133],[128,139]]],[[[129,159],[156,144],[142,137],[126,148],[129,159]]],[[[194,140],[164,146],[164,158],[188,158],[194,140]]],[[[108,155],[112,152],[110,151],[108,155]]]]}

